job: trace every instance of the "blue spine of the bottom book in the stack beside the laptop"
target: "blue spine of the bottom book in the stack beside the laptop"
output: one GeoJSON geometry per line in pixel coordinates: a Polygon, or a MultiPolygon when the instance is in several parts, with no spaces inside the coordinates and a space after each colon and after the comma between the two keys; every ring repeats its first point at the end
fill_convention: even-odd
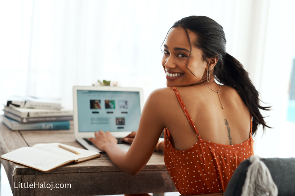
{"type": "Polygon", "coordinates": [[[50,123],[13,123],[11,130],[59,130],[70,129],[70,122],[50,122],[50,123]]]}

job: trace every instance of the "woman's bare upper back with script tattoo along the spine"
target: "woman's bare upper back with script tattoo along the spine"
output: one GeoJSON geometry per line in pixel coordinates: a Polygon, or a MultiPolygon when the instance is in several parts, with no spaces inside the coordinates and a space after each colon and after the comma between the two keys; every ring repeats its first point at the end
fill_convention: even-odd
{"type": "MultiPolygon", "coordinates": [[[[210,88],[218,90],[218,85],[210,88]]],[[[187,149],[198,141],[195,131],[187,121],[172,88],[163,90],[166,127],[173,136],[177,149],[187,149]]],[[[221,86],[218,94],[203,85],[177,87],[202,139],[223,145],[235,145],[249,138],[250,113],[235,89],[221,86]],[[229,128],[228,128],[229,127],[229,128]]]]}

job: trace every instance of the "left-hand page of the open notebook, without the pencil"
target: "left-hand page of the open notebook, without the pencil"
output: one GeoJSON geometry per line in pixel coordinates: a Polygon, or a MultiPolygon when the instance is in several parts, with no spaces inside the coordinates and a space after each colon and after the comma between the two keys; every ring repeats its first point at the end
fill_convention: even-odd
{"type": "Polygon", "coordinates": [[[51,170],[59,165],[73,160],[72,158],[45,152],[32,147],[21,147],[1,156],[10,161],[27,165],[41,171],[51,170]]]}

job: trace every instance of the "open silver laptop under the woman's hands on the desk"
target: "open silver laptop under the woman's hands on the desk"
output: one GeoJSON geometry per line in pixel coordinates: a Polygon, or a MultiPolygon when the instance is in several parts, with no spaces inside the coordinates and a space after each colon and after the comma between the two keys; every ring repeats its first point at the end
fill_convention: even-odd
{"type": "Polygon", "coordinates": [[[74,86],[74,133],[83,147],[103,152],[88,138],[95,131],[110,131],[117,138],[118,146],[128,150],[130,144],[121,139],[137,131],[143,108],[142,88],[106,86],[74,86]]]}

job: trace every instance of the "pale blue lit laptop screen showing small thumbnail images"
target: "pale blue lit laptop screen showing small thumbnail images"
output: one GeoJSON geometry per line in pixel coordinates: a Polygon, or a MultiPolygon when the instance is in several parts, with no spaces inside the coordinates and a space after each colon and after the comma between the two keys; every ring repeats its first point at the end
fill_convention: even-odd
{"type": "Polygon", "coordinates": [[[139,92],[77,90],[79,132],[137,131],[139,92]]]}

